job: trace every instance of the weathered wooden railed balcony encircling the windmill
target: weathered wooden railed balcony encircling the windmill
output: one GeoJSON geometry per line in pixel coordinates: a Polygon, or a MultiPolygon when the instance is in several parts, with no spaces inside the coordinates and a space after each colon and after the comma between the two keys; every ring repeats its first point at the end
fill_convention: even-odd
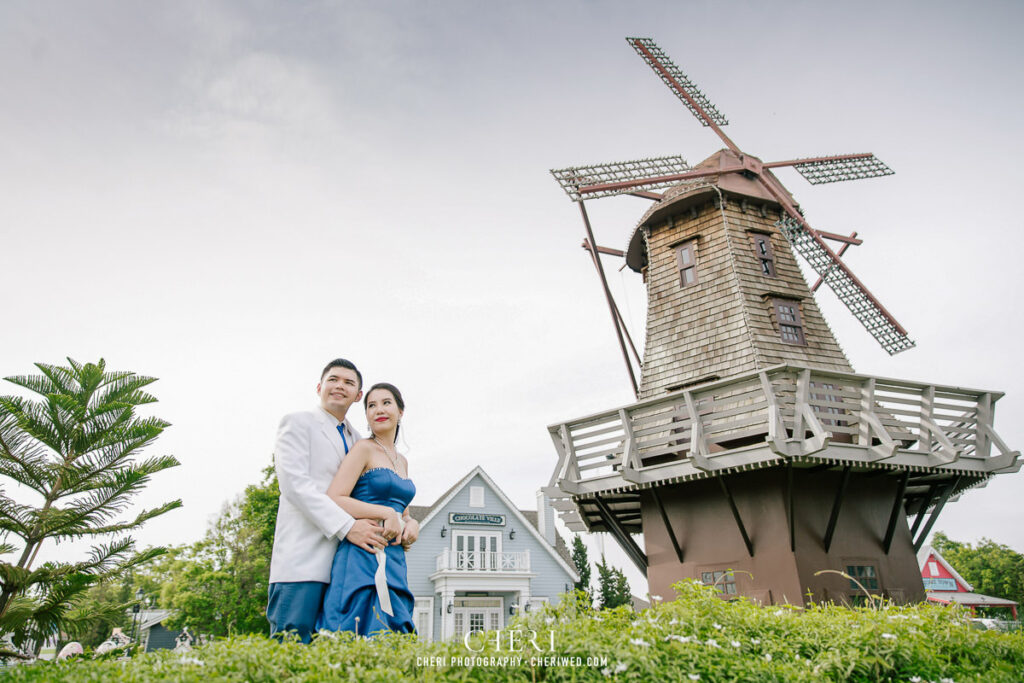
{"type": "Polygon", "coordinates": [[[655,483],[787,463],[927,473],[958,493],[1020,469],[992,429],[1001,396],[775,366],[549,426],[558,464],[546,493],[573,530],[591,526],[582,499],[627,504],[655,483]]]}

